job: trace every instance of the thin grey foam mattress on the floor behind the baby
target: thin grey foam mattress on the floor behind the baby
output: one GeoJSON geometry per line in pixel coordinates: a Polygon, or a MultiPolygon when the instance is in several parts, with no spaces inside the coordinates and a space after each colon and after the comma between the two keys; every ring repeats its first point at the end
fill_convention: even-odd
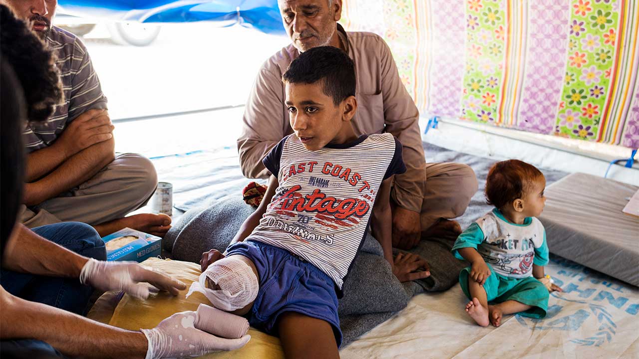
{"type": "Polygon", "coordinates": [[[550,252],[639,286],[639,218],[622,212],[636,190],[583,173],[548,186],[539,219],[550,252]]]}

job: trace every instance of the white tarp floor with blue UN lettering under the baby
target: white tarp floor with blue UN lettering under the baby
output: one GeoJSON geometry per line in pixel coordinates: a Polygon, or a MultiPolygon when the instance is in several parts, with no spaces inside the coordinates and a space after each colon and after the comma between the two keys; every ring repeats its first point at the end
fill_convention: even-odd
{"type": "Polygon", "coordinates": [[[548,316],[506,316],[482,328],[463,310],[459,284],[419,294],[408,307],[340,351],[371,358],[639,358],[639,289],[553,256],[546,266],[564,293],[548,316]]]}

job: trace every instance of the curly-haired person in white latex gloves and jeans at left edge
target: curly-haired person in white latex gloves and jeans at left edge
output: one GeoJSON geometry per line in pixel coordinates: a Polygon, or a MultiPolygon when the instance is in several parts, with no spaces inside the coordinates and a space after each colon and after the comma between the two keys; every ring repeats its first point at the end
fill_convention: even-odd
{"type": "Polygon", "coordinates": [[[137,263],[105,262],[104,242],[87,224],[66,222],[33,231],[19,224],[24,181],[20,131],[27,113],[30,121],[50,116],[62,91],[42,42],[3,5],[0,14],[3,50],[4,45],[8,49],[0,61],[0,357],[175,358],[243,346],[248,335],[228,340],[195,330],[194,312],[174,314],[139,332],[79,315],[93,287],[146,298],[148,284],[172,294],[185,285],[137,263]],[[12,36],[5,36],[5,26],[16,30],[12,36]]]}

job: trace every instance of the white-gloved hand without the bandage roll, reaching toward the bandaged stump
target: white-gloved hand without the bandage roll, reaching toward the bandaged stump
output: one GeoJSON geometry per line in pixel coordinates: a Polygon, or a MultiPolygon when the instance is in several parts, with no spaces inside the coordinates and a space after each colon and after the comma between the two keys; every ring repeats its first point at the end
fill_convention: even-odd
{"type": "Polygon", "coordinates": [[[187,287],[180,280],[148,270],[135,262],[107,262],[93,258],[82,267],[80,282],[102,291],[125,291],[142,299],[149,296],[149,286],[144,282],[173,295],[177,295],[178,291],[187,287]]]}

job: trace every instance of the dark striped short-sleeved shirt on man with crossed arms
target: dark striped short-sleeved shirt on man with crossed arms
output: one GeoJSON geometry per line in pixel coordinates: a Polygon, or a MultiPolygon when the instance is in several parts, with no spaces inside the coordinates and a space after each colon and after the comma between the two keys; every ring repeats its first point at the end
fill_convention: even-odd
{"type": "Polygon", "coordinates": [[[22,133],[27,152],[49,146],[66,125],[90,109],[106,109],[107,98],[91,64],[91,57],[77,36],[52,26],[45,42],[58,57],[65,102],[43,123],[29,123],[22,133]]]}

